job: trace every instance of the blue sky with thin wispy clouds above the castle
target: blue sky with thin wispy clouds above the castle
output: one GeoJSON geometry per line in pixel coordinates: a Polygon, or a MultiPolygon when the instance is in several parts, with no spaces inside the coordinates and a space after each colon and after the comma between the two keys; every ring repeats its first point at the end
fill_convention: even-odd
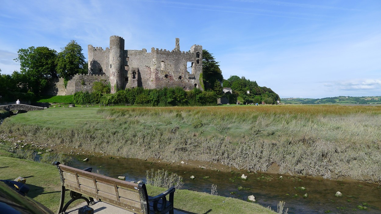
{"type": "Polygon", "coordinates": [[[75,40],[125,49],[213,53],[225,79],[256,80],[280,97],[381,95],[380,0],[0,0],[0,69],[20,48],[75,40]]]}

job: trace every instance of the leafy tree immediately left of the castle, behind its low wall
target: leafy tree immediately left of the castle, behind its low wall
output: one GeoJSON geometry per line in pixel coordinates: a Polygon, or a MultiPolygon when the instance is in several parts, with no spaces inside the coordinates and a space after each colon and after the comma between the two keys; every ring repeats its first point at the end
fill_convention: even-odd
{"type": "Polygon", "coordinates": [[[57,57],[57,73],[59,77],[67,78],[76,73],[83,72],[85,56],[82,53],[82,47],[75,40],[71,40],[57,57]]]}

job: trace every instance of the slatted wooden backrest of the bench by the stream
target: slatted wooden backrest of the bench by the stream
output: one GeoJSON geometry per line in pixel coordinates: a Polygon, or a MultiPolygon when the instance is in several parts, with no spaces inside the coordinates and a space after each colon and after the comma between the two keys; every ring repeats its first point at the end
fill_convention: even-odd
{"type": "Polygon", "coordinates": [[[62,164],[58,166],[62,171],[63,185],[69,190],[138,214],[145,213],[144,210],[149,206],[144,184],[138,185],[62,164]]]}

